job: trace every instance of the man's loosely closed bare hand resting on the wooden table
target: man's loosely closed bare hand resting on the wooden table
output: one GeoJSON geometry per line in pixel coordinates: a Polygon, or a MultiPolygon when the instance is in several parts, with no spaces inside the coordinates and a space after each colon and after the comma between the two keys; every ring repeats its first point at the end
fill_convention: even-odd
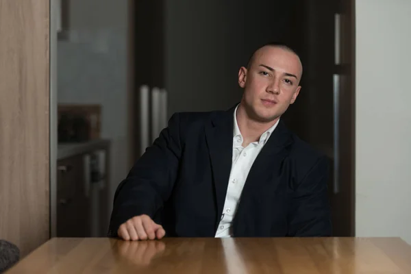
{"type": "Polygon", "coordinates": [[[120,225],[117,234],[123,240],[153,240],[163,238],[166,232],[161,225],[154,223],[149,216],[143,214],[120,225]]]}

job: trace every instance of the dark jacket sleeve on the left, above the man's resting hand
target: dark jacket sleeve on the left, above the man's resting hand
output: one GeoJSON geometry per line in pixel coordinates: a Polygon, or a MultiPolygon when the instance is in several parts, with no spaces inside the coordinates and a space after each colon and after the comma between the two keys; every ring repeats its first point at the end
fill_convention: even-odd
{"type": "Polygon", "coordinates": [[[119,226],[141,214],[151,218],[169,199],[182,154],[179,114],[173,114],[153,145],[132,167],[114,194],[114,204],[108,231],[116,237],[119,226]]]}

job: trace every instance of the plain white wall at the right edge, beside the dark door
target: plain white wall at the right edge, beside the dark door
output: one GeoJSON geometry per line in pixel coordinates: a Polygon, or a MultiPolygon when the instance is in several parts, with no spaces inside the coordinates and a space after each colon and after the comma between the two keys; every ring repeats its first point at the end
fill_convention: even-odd
{"type": "Polygon", "coordinates": [[[411,1],[356,1],[356,235],[411,244],[411,1]]]}

